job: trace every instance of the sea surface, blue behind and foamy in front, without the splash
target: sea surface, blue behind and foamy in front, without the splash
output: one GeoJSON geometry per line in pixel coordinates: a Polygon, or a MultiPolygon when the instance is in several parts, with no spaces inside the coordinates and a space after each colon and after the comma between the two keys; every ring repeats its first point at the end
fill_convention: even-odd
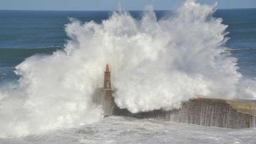
{"type": "MultiPolygon", "coordinates": [[[[101,23],[111,11],[0,10],[0,84],[17,81],[15,66],[34,54],[52,54],[67,42],[64,31],[70,17],[101,23]]],[[[156,11],[158,19],[167,11],[156,11]]],[[[130,11],[140,19],[142,11],[130,11]]],[[[226,47],[238,59],[243,77],[256,77],[256,9],[218,9],[230,39],[226,47]]],[[[1,130],[1,128],[0,128],[1,130]]],[[[2,143],[256,143],[256,129],[225,129],[160,122],[122,116],[71,129],[45,131],[2,143]]]]}

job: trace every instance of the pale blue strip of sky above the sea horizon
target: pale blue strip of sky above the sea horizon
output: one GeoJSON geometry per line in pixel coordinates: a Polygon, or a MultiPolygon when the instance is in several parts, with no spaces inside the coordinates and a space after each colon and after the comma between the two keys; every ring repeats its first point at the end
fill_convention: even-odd
{"type": "MultiPolygon", "coordinates": [[[[0,10],[117,10],[118,1],[125,10],[172,10],[185,0],[0,0],[0,10]]],[[[197,0],[202,4],[218,2],[217,8],[256,8],[256,0],[197,0]]]]}

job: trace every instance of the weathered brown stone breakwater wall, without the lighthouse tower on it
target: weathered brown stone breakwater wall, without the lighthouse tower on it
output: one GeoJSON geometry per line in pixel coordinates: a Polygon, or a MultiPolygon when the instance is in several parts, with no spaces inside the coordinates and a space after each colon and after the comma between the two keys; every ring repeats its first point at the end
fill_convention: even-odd
{"type": "Polygon", "coordinates": [[[179,109],[131,113],[115,104],[111,89],[98,88],[94,99],[102,104],[105,116],[123,115],[232,129],[256,127],[256,103],[250,100],[193,98],[179,109]]]}

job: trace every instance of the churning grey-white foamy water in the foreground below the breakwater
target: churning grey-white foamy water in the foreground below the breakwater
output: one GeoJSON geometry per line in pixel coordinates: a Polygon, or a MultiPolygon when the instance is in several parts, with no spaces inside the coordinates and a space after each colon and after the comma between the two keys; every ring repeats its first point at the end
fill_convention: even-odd
{"type": "Polygon", "coordinates": [[[0,138],[0,143],[253,144],[256,142],[255,132],[255,128],[225,129],[111,116],[76,128],[51,130],[21,138],[0,138]]]}

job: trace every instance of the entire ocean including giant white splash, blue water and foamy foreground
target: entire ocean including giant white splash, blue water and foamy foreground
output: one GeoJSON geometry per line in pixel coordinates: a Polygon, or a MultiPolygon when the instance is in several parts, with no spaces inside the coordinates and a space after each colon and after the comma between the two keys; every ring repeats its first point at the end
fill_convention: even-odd
{"type": "Polygon", "coordinates": [[[255,99],[256,8],[215,10],[0,10],[0,143],[255,143],[255,128],[102,118],[91,102],[106,62],[131,112],[255,99]]]}

